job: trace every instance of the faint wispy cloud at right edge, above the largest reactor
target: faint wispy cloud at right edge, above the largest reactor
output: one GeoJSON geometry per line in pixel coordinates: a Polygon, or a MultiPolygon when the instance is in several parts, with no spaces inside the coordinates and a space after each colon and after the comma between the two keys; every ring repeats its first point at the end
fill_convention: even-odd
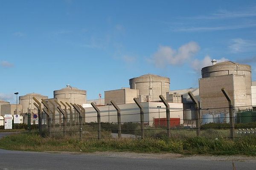
{"type": "Polygon", "coordinates": [[[249,51],[256,47],[256,42],[251,40],[244,40],[241,38],[232,39],[230,45],[228,46],[232,53],[239,53],[244,51],[249,51]]]}

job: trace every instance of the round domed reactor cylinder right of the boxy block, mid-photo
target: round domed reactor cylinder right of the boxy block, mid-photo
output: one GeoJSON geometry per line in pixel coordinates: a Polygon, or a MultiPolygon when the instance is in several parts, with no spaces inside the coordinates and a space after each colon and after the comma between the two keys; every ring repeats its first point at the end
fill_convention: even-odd
{"type": "Polygon", "coordinates": [[[159,95],[166,98],[166,92],[170,89],[170,79],[153,74],[145,74],[129,80],[130,88],[138,89],[139,95],[148,96],[148,102],[159,101],[159,95]]]}

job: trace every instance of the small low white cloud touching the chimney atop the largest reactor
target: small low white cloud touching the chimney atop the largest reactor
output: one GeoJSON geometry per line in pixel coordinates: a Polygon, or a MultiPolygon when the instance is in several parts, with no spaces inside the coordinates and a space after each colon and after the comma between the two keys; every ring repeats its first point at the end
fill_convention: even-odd
{"type": "MultiPolygon", "coordinates": [[[[216,59],[217,60],[217,63],[218,62],[224,62],[224,61],[228,61],[228,59],[222,57],[221,59],[216,59]]],[[[207,55],[204,57],[204,59],[202,60],[199,60],[199,59],[195,59],[193,62],[192,62],[192,68],[193,70],[195,70],[196,72],[201,72],[201,69],[204,68],[204,67],[207,67],[209,65],[212,65],[212,58],[207,55]]]]}

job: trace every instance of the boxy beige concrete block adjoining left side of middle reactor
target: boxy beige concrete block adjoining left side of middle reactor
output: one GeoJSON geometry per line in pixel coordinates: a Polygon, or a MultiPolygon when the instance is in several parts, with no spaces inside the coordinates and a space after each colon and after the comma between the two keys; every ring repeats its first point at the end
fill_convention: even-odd
{"type": "Polygon", "coordinates": [[[110,104],[111,100],[117,105],[134,103],[133,98],[138,97],[137,89],[122,88],[118,90],[105,91],[105,105],[110,104]]]}

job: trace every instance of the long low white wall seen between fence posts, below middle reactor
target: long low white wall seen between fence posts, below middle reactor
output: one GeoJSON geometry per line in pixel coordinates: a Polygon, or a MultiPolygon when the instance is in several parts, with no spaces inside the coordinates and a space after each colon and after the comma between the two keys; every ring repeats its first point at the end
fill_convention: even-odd
{"type": "MultiPolygon", "coordinates": [[[[162,102],[143,102],[144,121],[148,125],[153,125],[154,118],[166,118],[166,108],[162,102]],[[157,106],[161,106],[160,109],[157,106]],[[159,112],[158,112],[159,111],[159,112]]],[[[180,118],[180,123],[183,124],[183,105],[182,103],[169,103],[170,118],[180,118]]],[[[121,122],[140,122],[140,109],[135,103],[118,105],[121,109],[121,122]]],[[[93,108],[84,108],[86,114],[86,122],[97,122],[97,113],[93,108]]],[[[101,122],[117,122],[116,109],[111,106],[99,107],[101,111],[101,122]],[[109,115],[109,116],[108,116],[109,115]]]]}

